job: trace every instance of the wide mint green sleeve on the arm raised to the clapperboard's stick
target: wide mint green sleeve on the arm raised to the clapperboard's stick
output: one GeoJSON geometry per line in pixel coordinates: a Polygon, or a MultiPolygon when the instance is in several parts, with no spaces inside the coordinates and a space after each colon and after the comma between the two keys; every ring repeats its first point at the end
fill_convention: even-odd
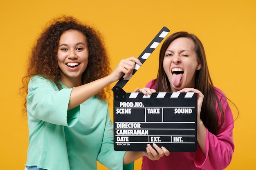
{"type": "Polygon", "coordinates": [[[80,106],[67,110],[72,89],[58,90],[50,80],[32,77],[28,85],[27,113],[51,124],[73,126],[78,120],[80,106]]]}

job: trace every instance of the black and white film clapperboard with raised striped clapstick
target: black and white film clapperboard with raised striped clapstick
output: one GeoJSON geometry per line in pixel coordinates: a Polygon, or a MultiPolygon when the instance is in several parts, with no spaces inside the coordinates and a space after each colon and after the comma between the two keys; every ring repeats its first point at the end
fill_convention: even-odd
{"type": "MultiPolygon", "coordinates": [[[[170,32],[163,27],[138,59],[143,64],[170,32]]],[[[135,64],[134,75],[139,69],[135,64]]],[[[130,77],[131,78],[131,77],[130,77]]],[[[129,78],[129,79],[130,79],[129,78]]],[[[126,93],[129,81],[121,77],[114,93],[114,149],[146,151],[147,144],[164,146],[171,152],[195,152],[197,149],[196,93],[126,93]]]]}

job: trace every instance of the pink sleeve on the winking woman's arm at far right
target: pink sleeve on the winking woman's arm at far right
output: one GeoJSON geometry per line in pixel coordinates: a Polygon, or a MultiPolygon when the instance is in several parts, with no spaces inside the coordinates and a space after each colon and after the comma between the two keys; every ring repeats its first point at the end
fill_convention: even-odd
{"type": "MultiPolygon", "coordinates": [[[[213,135],[207,130],[206,136],[206,157],[198,146],[195,152],[195,166],[207,170],[223,170],[231,162],[234,152],[233,128],[234,119],[225,96],[221,96],[220,102],[224,109],[225,121],[217,135],[213,135]]],[[[217,108],[220,122],[220,111],[217,108]]]]}

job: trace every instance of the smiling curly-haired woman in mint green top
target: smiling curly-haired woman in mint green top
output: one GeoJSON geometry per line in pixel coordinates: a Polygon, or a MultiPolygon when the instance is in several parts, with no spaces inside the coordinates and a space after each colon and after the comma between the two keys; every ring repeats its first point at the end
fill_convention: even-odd
{"type": "Polygon", "coordinates": [[[139,157],[168,155],[155,145],[157,152],[150,145],[147,152],[113,149],[106,92],[121,76],[129,77],[135,63],[141,65],[135,57],[121,60],[110,73],[98,31],[73,17],[50,22],[32,48],[23,77],[29,126],[26,169],[96,170],[97,161],[111,170],[133,169],[139,157]]]}

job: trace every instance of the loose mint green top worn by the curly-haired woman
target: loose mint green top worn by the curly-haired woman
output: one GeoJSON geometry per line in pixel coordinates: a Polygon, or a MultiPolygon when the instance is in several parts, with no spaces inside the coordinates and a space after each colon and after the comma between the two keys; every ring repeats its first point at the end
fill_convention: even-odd
{"type": "Polygon", "coordinates": [[[28,85],[29,147],[26,166],[47,170],[97,170],[97,161],[110,170],[123,166],[124,153],[113,148],[113,124],[108,103],[91,97],[67,110],[72,88],[40,77],[28,85]]]}

